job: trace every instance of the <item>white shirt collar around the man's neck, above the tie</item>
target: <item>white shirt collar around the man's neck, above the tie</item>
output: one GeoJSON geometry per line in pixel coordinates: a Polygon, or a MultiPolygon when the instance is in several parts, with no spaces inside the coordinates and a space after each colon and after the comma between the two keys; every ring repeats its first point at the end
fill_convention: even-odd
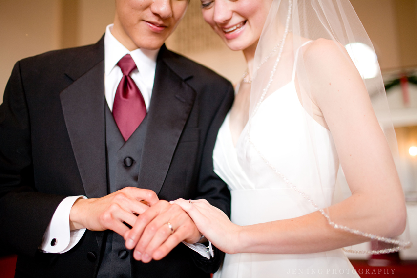
{"type": "Polygon", "coordinates": [[[156,58],[158,56],[159,49],[149,50],[143,48],[137,48],[133,51],[129,51],[122,43],[120,43],[111,33],[113,24],[106,27],[104,35],[104,70],[105,75],[108,76],[113,68],[117,65],[120,59],[126,54],[130,54],[133,61],[135,61],[139,72],[147,73],[149,71],[155,71],[156,58]]]}

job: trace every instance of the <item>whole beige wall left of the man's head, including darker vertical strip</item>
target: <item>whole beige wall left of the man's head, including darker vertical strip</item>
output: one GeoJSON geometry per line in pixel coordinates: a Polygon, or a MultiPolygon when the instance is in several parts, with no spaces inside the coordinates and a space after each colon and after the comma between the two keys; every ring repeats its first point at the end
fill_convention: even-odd
{"type": "Polygon", "coordinates": [[[18,60],[97,42],[114,10],[114,0],[0,0],[0,103],[18,60]]]}

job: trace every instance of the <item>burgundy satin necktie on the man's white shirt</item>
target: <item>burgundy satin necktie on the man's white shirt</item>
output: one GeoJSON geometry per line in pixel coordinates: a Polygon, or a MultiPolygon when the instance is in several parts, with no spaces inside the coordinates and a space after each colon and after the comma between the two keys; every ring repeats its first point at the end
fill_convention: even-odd
{"type": "Polygon", "coordinates": [[[113,103],[113,117],[125,141],[139,127],[146,116],[144,97],[129,74],[136,69],[136,64],[129,54],[117,63],[123,78],[117,86],[113,103]]]}

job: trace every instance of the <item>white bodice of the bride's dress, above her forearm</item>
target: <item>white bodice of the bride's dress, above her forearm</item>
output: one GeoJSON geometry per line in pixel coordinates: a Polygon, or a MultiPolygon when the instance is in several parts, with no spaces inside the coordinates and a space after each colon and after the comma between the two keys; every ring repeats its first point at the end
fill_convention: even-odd
{"type": "Polygon", "coordinates": [[[214,171],[226,181],[234,197],[233,222],[249,225],[293,218],[315,210],[265,163],[258,151],[320,207],[331,204],[339,166],[333,137],[302,107],[293,81],[266,98],[252,118],[249,132],[254,146],[249,141],[248,128],[246,125],[235,147],[228,114],[213,151],[214,171]],[[313,126],[312,132],[305,128],[308,124],[313,126]],[[316,160],[308,159],[313,157],[309,153],[311,136],[318,153],[316,160]],[[236,207],[241,203],[237,202],[237,196],[242,199],[242,206],[236,207]],[[247,198],[253,205],[247,205],[244,201],[247,198]],[[275,214],[271,213],[272,209],[275,214]],[[242,210],[248,211],[240,219],[238,215],[244,215],[242,210]],[[254,217],[247,217],[248,214],[254,217]]]}

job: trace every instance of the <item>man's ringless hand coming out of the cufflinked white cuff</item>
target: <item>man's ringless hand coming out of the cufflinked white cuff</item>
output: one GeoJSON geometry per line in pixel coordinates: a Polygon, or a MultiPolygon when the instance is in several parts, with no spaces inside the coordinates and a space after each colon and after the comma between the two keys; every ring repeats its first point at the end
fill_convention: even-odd
{"type": "Polygon", "coordinates": [[[70,211],[71,230],[87,228],[91,231],[112,230],[124,236],[133,226],[137,214],[159,201],[155,192],[126,187],[98,199],[78,199],[70,211]]]}

